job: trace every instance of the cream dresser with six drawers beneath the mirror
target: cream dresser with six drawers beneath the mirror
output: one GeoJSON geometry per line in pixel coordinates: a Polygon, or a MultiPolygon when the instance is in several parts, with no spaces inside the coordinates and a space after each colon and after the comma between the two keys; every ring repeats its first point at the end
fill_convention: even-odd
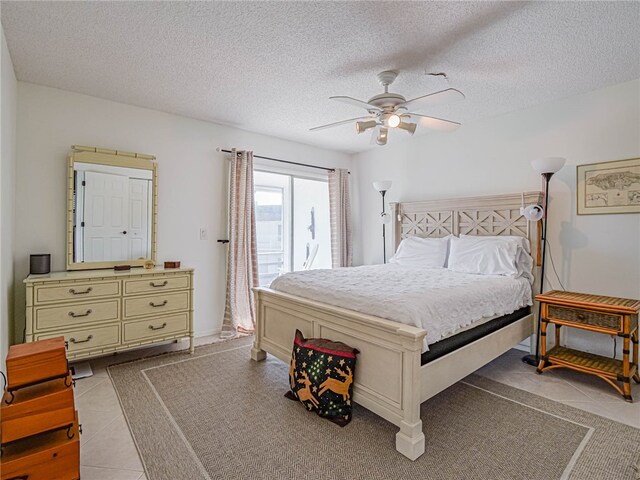
{"type": "Polygon", "coordinates": [[[193,269],[132,268],[29,275],[26,341],[64,335],[69,359],[188,338],[193,269]]]}

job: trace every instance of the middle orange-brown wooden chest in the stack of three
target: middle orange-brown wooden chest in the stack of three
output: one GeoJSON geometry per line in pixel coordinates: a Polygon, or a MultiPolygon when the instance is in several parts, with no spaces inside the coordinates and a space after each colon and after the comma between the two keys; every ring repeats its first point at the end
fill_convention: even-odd
{"type": "Polygon", "coordinates": [[[71,375],[5,393],[1,443],[7,444],[42,432],[66,428],[75,420],[71,375]],[[7,404],[8,400],[12,400],[7,404]]]}

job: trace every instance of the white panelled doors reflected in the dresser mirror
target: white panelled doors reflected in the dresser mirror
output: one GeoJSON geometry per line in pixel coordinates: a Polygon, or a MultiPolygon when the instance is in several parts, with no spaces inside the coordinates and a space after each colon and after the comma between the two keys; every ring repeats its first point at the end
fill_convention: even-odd
{"type": "Polygon", "coordinates": [[[148,192],[148,180],[85,172],[85,262],[150,257],[148,192]]]}

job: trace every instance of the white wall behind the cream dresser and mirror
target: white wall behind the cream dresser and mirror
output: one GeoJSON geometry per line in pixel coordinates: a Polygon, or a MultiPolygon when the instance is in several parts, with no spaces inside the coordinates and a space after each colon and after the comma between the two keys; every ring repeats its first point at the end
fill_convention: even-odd
{"type": "MultiPolygon", "coordinates": [[[[65,269],[66,156],[72,144],[156,155],[158,260],[195,268],[196,335],[219,331],[225,293],[227,161],[216,147],[238,147],[304,163],[349,168],[330,150],[94,97],[18,83],[16,318],[22,335],[29,254],[51,253],[65,269]],[[208,240],[199,239],[206,228],[208,240]]],[[[18,338],[21,340],[21,338],[18,338]]]]}

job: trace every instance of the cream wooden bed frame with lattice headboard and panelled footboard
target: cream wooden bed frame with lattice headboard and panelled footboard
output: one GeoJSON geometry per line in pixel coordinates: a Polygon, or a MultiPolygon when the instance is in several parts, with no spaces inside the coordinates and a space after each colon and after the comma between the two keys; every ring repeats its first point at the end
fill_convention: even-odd
{"type": "MultiPolygon", "coordinates": [[[[520,215],[521,194],[392,204],[393,239],[406,236],[520,236],[529,239],[539,264],[539,228],[520,215]]],[[[524,194],[526,204],[540,203],[540,192],[524,194]]],[[[534,276],[537,268],[534,268],[534,276]]],[[[533,283],[537,293],[539,281],[533,283]]],[[[384,294],[384,292],[380,292],[384,294]]],[[[534,318],[528,307],[471,325],[459,335],[425,348],[428,332],[415,322],[400,323],[270,288],[255,289],[256,338],[251,358],[291,356],[293,336],[324,337],[360,351],[354,401],[399,427],[396,449],[411,460],[424,453],[420,404],[529,337],[534,318]],[[507,318],[508,317],[508,318],[507,318]],[[483,328],[482,328],[483,327],[483,328]],[[477,330],[475,333],[473,330],[477,330]],[[461,340],[462,339],[462,340],[461,340]],[[435,351],[435,354],[433,353],[435,351]]]]}

